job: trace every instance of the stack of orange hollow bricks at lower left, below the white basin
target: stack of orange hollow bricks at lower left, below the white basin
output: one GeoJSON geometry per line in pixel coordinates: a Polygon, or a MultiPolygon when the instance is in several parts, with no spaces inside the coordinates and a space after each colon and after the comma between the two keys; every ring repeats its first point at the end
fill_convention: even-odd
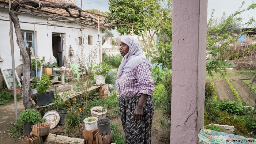
{"type": "Polygon", "coordinates": [[[41,123],[35,124],[32,127],[32,132],[29,136],[25,137],[25,144],[42,144],[43,136],[50,133],[50,125],[41,123]]]}

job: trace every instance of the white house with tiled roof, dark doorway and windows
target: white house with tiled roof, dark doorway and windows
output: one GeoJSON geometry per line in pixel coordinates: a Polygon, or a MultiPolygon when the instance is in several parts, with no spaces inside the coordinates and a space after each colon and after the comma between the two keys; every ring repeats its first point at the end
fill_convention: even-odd
{"type": "MultiPolygon", "coordinates": [[[[53,0],[44,0],[53,1],[53,0]]],[[[65,0],[54,0],[54,3],[63,3],[65,0]]],[[[68,1],[76,3],[75,0],[68,1]]],[[[58,62],[58,66],[75,64],[75,56],[79,54],[81,46],[84,46],[84,55],[89,56],[89,50],[97,51],[95,62],[99,62],[99,46],[101,46],[101,29],[98,38],[97,16],[82,12],[88,15],[87,18],[74,19],[62,9],[42,8],[38,10],[27,10],[21,8],[19,11],[20,28],[22,30],[25,46],[30,49],[31,58],[34,57],[34,50],[37,50],[37,58],[45,57],[48,61],[53,55],[58,62]],[[35,24],[35,33],[34,33],[35,24]],[[36,38],[34,39],[34,34],[36,38]],[[100,41],[100,44],[98,42],[100,41]],[[70,50],[74,54],[70,54],[70,50]],[[72,55],[72,56],[71,56],[72,55]]],[[[105,21],[100,20],[100,27],[106,28],[105,21]]],[[[13,28],[14,29],[14,28],[13,28]]],[[[15,67],[22,67],[22,57],[20,49],[16,43],[14,31],[14,55],[15,67]]],[[[11,48],[10,48],[10,21],[7,1],[0,0],[0,68],[11,68],[11,48]]],[[[102,53],[102,52],[101,52],[102,53]]],[[[102,56],[102,54],[101,54],[102,56]]],[[[16,69],[17,73],[21,73],[16,69]]]]}

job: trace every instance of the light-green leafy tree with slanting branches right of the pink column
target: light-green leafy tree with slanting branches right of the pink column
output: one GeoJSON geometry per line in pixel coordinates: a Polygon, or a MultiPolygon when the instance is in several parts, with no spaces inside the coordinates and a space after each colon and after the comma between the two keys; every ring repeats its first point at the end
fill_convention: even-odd
{"type": "MultiPolygon", "coordinates": [[[[212,75],[212,71],[220,72],[220,68],[224,68],[226,65],[223,62],[222,52],[223,50],[229,48],[230,43],[234,43],[237,41],[238,36],[231,37],[234,34],[234,24],[240,24],[242,22],[242,18],[238,17],[242,12],[252,10],[256,8],[256,4],[249,5],[248,8],[242,9],[244,5],[244,1],[242,2],[241,7],[234,14],[229,16],[222,16],[220,22],[216,24],[216,20],[214,20],[214,10],[212,10],[211,18],[207,23],[207,54],[212,56],[210,61],[207,61],[206,69],[209,75],[212,75]]],[[[253,18],[251,18],[245,24],[241,24],[241,26],[248,26],[255,22],[253,18]]]]}

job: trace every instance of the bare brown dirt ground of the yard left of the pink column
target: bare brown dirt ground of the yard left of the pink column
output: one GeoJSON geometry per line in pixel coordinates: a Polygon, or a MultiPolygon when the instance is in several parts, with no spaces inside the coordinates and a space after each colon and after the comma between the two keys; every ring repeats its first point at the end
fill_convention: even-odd
{"type": "MultiPolygon", "coordinates": [[[[25,110],[22,99],[17,101],[17,105],[19,115],[23,110],[25,110]]],[[[0,105],[0,111],[0,144],[23,144],[24,136],[12,138],[12,136],[8,134],[9,126],[14,124],[15,121],[14,102],[12,101],[5,105],[0,105]]],[[[161,112],[156,110],[153,118],[152,144],[168,144],[170,141],[170,133],[168,130],[159,128],[160,117],[161,112]]],[[[113,118],[111,121],[113,123],[118,123],[118,130],[124,135],[120,118],[113,118]]],[[[50,133],[58,133],[67,136],[67,134],[64,133],[64,127],[64,125],[59,125],[56,128],[51,129],[50,133]]]]}

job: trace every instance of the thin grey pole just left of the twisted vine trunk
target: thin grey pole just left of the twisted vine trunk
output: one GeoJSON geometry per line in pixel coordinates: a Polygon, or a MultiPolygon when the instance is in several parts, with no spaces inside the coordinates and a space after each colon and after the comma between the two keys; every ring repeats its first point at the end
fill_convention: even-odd
{"type": "MultiPolygon", "coordinates": [[[[11,10],[11,0],[9,0],[9,11],[11,10]]],[[[18,110],[17,110],[17,94],[16,94],[16,75],[15,75],[15,60],[14,60],[14,46],[13,46],[13,29],[12,29],[12,19],[10,18],[10,42],[11,42],[11,55],[12,55],[12,83],[14,90],[14,109],[15,109],[15,122],[18,120],[18,110]]]]}

